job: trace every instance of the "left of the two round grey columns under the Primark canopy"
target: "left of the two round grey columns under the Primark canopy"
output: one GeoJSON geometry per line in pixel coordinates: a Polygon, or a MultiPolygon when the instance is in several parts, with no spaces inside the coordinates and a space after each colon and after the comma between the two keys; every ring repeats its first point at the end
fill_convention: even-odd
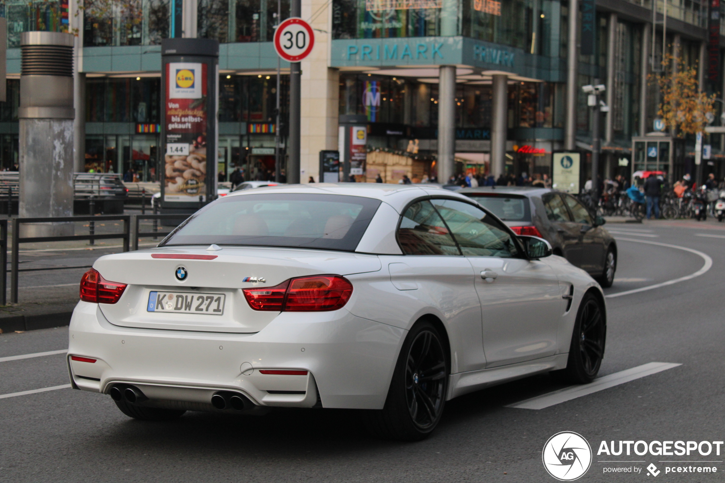
{"type": "Polygon", "coordinates": [[[455,66],[442,65],[438,83],[438,182],[455,172],[455,66]]]}

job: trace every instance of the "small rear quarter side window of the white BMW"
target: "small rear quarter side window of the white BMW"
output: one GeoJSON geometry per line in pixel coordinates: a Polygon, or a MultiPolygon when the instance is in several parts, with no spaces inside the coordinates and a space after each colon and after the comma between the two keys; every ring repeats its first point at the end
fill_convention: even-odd
{"type": "Polygon", "coordinates": [[[398,242],[405,255],[460,255],[430,201],[415,203],[405,211],[398,229],[398,242]]]}

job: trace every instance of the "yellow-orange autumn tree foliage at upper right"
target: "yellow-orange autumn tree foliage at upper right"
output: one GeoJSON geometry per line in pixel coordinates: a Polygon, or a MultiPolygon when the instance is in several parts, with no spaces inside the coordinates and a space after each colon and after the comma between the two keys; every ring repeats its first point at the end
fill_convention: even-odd
{"type": "Polygon", "coordinates": [[[715,111],[715,94],[708,96],[700,91],[697,67],[674,64],[671,54],[665,57],[663,66],[663,73],[655,76],[662,99],[657,114],[671,128],[673,136],[705,130],[708,112],[715,111]]]}

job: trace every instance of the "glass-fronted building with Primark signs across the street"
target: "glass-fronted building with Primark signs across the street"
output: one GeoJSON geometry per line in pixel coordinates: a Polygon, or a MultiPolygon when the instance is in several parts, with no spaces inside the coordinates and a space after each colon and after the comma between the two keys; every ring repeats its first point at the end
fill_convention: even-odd
{"type": "MultiPolygon", "coordinates": [[[[303,98],[303,109],[314,111],[322,100],[320,106],[326,110],[328,134],[320,136],[326,139],[324,143],[329,145],[336,137],[337,117],[357,114],[367,119],[369,150],[381,148],[407,156],[407,148],[414,143],[416,154],[434,160],[442,102],[439,67],[449,65],[455,66],[457,169],[489,170],[496,122],[493,77],[506,75],[505,169],[515,174],[550,172],[551,154],[563,148],[568,122],[572,14],[568,1],[332,0],[325,4],[303,0],[303,5],[305,1],[310,1],[310,21],[323,40],[319,48],[329,52],[319,56],[324,65],[305,67],[314,66],[310,75],[324,77],[325,82],[310,80],[307,88],[303,85],[310,98],[309,104],[303,98]]],[[[613,0],[597,3],[592,54],[577,58],[577,101],[571,112],[578,148],[587,151],[592,140],[591,114],[581,86],[605,83],[611,92],[606,97],[610,114],[601,123],[600,133],[606,175],[631,172],[633,163],[625,167],[621,160],[632,160],[631,138],[645,135],[656,117],[656,88],[646,82],[643,87],[642,82],[652,73],[652,62],[642,59],[642,52],[653,49],[657,64],[664,45],[664,54],[676,54],[685,65],[698,65],[705,58],[703,49],[709,49],[711,12],[704,0],[668,0],[666,38],[660,25],[654,38],[651,33],[645,35],[653,7],[662,12],[663,0],[626,4],[621,9],[613,0]]],[[[173,17],[173,3],[89,0],[82,9],[68,5],[52,0],[0,1],[0,16],[8,22],[9,48],[9,96],[0,105],[0,166],[7,169],[17,163],[20,33],[66,31],[80,38],[77,64],[85,77],[83,169],[119,173],[133,169],[139,180],[156,180],[163,107],[159,44],[162,38],[175,35],[173,25],[181,21],[173,17]]],[[[573,14],[581,24],[582,13],[573,14]]],[[[225,177],[235,166],[244,167],[248,177],[264,176],[273,169],[278,61],[271,41],[275,26],[286,17],[289,0],[281,1],[279,7],[270,0],[199,0],[194,12],[196,30],[191,36],[213,38],[221,44],[218,161],[225,177]]],[[[725,33],[722,26],[721,32],[725,33]]],[[[722,51],[718,60],[723,64],[722,51]]],[[[282,62],[281,67],[283,146],[289,64],[282,62]]],[[[708,90],[723,91],[721,71],[719,67],[717,79],[705,83],[708,90]]],[[[318,123],[309,124],[314,137],[311,133],[318,123]]],[[[719,143],[713,144],[720,156],[719,143]]],[[[318,146],[310,141],[307,169],[316,177],[318,151],[331,146],[313,145],[318,146]]]]}

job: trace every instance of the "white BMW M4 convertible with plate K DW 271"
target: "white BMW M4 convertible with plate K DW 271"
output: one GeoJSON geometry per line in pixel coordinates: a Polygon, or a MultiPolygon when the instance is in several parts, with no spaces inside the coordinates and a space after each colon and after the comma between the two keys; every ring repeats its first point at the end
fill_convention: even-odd
{"type": "Polygon", "coordinates": [[[420,440],[445,402],[556,371],[591,382],[592,277],[471,198],[412,185],[231,193],[151,250],[99,258],[70,322],[72,387],[128,416],[355,408],[420,440]]]}

